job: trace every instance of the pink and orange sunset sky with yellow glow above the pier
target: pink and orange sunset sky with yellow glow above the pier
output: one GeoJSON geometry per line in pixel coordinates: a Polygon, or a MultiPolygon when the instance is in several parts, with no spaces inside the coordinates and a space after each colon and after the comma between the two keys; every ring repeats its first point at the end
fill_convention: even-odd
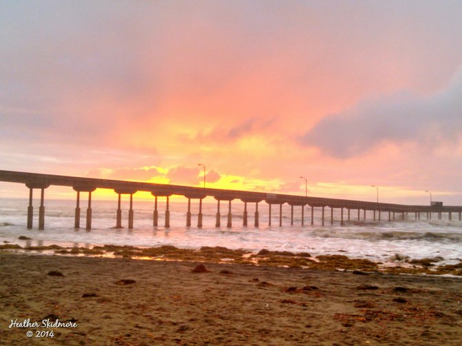
{"type": "Polygon", "coordinates": [[[461,17],[458,0],[3,0],[0,170],[201,186],[202,163],[208,187],[304,194],[304,176],[310,196],[462,205],[461,17]]]}

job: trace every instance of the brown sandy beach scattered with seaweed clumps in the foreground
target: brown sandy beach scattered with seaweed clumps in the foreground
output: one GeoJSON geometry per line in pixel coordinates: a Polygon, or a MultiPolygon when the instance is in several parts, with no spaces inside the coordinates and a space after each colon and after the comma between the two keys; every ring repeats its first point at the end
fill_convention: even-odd
{"type": "Polygon", "coordinates": [[[199,264],[1,253],[0,344],[461,344],[460,277],[199,264]]]}

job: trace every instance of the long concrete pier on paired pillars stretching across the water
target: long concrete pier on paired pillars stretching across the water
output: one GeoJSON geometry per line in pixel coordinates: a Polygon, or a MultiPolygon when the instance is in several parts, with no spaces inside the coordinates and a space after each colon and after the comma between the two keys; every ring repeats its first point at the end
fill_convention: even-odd
{"type": "MultiPolygon", "coordinates": [[[[188,199],[188,211],[185,214],[186,226],[191,226],[191,200],[199,200],[199,213],[197,214],[197,227],[203,226],[202,215],[202,200],[205,197],[213,197],[217,200],[217,215],[216,227],[221,227],[221,210],[220,202],[228,204],[228,213],[226,219],[226,226],[232,227],[232,201],[240,201],[244,203],[243,212],[243,225],[248,225],[248,204],[254,204],[254,227],[259,227],[259,203],[266,203],[268,205],[268,224],[271,225],[272,221],[272,206],[276,205],[279,210],[279,227],[282,223],[282,206],[284,204],[290,205],[290,225],[294,224],[294,207],[301,210],[301,225],[305,223],[305,207],[310,207],[310,224],[314,225],[314,210],[321,208],[321,225],[325,225],[325,207],[330,208],[330,224],[334,223],[334,209],[341,209],[341,216],[338,220],[341,225],[345,221],[352,220],[352,211],[357,211],[357,221],[361,221],[361,210],[363,211],[363,221],[366,219],[366,212],[373,212],[373,220],[381,221],[382,214],[388,216],[388,221],[396,220],[395,214],[398,218],[405,219],[405,215],[414,214],[414,220],[421,220],[421,216],[426,217],[427,220],[432,220],[432,215],[441,220],[442,214],[447,213],[448,219],[453,220],[452,214],[455,213],[459,216],[459,221],[462,221],[462,206],[442,206],[442,205],[401,205],[391,203],[376,203],[365,201],[353,201],[348,199],[324,199],[319,197],[310,196],[294,196],[289,194],[272,194],[265,192],[249,192],[239,190],[221,190],[211,189],[205,187],[190,187],[183,185],[170,185],[170,184],[157,184],[157,183],[143,183],[137,181],[118,181],[110,179],[94,179],[82,178],[76,176],[60,176],[53,174],[37,174],[28,172],[14,172],[0,170],[0,181],[8,183],[21,183],[25,184],[29,189],[29,205],[27,213],[27,227],[32,228],[34,206],[32,205],[32,197],[34,190],[40,192],[40,205],[39,205],[39,230],[45,229],[45,190],[51,185],[68,186],[77,192],[76,207],[74,217],[74,227],[80,227],[80,196],[81,193],[88,193],[88,207],[86,210],[86,229],[92,228],[92,192],[96,189],[110,189],[114,190],[114,194],[118,195],[117,213],[115,226],[121,228],[121,195],[130,195],[130,209],[128,210],[128,228],[132,229],[134,225],[133,217],[133,195],[137,192],[150,192],[154,197],[154,210],[152,214],[152,225],[159,225],[159,210],[158,199],[165,199],[165,218],[164,226],[170,227],[170,210],[169,198],[172,195],[184,196],[188,199]],[[346,215],[346,220],[345,220],[346,215]]],[[[353,214],[354,215],[354,214],[353,214]]],[[[386,216],[385,216],[386,217],[386,216]]]]}

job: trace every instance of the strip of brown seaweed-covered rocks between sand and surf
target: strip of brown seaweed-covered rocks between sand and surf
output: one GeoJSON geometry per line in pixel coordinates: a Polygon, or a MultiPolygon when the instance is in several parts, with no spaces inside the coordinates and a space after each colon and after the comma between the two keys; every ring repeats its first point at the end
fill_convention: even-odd
{"type": "MultiPolygon", "coordinates": [[[[20,237],[24,240],[26,237],[20,237]]],[[[21,247],[15,243],[0,245],[2,252],[19,252],[61,256],[105,257],[142,259],[150,261],[196,261],[204,263],[228,263],[263,265],[272,267],[294,267],[301,269],[346,270],[363,272],[382,272],[388,274],[425,274],[461,276],[462,260],[445,264],[444,258],[411,259],[395,254],[388,262],[371,261],[368,258],[352,258],[340,254],[312,256],[308,252],[233,250],[222,246],[203,246],[199,249],[185,249],[173,245],[159,247],[136,247],[131,245],[93,245],[92,247],[64,247],[61,245],[42,245],[21,247]]]]}

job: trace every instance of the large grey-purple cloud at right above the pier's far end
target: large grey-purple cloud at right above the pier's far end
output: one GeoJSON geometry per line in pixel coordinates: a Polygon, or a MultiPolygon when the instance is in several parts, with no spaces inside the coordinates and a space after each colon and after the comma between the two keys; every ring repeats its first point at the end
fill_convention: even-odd
{"type": "Polygon", "coordinates": [[[401,91],[327,116],[300,142],[341,159],[360,156],[383,143],[456,145],[462,135],[461,114],[462,69],[445,89],[430,96],[401,91]]]}

